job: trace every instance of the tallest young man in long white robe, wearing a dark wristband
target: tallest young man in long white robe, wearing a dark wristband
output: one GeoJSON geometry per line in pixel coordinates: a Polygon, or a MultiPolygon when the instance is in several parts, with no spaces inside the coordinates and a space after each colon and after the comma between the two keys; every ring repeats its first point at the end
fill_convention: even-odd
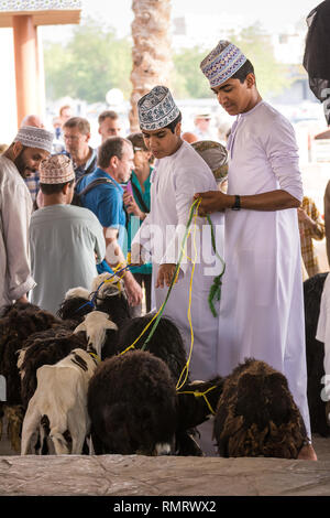
{"type": "MultiPolygon", "coordinates": [[[[205,192],[200,214],[224,212],[226,263],[220,307],[221,374],[245,357],[288,379],[310,438],[297,207],[302,199],[292,125],[265,102],[252,64],[220,41],[200,64],[229,115],[228,192],[205,192]]],[[[311,445],[301,458],[316,460],[311,445]]]]}

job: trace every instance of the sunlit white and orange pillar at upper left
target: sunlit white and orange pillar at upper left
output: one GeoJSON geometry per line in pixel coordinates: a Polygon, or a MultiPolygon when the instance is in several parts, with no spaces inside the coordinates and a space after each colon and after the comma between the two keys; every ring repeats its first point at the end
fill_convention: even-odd
{"type": "Polygon", "coordinates": [[[29,114],[40,114],[36,28],[31,15],[13,17],[18,126],[29,114]]]}

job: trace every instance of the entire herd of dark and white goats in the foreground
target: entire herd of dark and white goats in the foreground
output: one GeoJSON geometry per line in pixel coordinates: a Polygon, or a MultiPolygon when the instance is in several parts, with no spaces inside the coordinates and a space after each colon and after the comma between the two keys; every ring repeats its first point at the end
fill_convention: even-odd
{"type": "MultiPolygon", "coordinates": [[[[330,435],[322,390],[324,345],[316,341],[327,273],[304,283],[308,403],[312,433],[330,435]]],[[[74,288],[57,315],[30,303],[0,317],[0,440],[26,454],[204,455],[198,427],[212,419],[220,456],[297,458],[302,418],[280,373],[254,358],[229,376],[178,380],[180,333],[154,313],[131,317],[121,282],[74,288]]]]}

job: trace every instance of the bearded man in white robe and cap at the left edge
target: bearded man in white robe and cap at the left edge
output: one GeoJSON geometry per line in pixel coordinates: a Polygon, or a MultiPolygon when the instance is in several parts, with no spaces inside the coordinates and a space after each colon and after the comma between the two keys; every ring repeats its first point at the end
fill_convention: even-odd
{"type": "Polygon", "coordinates": [[[50,155],[52,142],[50,131],[26,126],[0,157],[0,307],[28,302],[26,293],[35,284],[28,246],[32,198],[24,179],[50,155]]]}

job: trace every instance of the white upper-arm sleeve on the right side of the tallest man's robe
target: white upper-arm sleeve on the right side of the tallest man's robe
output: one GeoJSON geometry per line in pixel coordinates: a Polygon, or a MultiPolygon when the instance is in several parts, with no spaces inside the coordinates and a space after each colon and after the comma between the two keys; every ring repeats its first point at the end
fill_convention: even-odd
{"type": "Polygon", "coordinates": [[[302,181],[299,171],[299,155],[295,131],[284,117],[272,120],[265,136],[265,150],[279,186],[299,202],[302,202],[302,181]]]}

